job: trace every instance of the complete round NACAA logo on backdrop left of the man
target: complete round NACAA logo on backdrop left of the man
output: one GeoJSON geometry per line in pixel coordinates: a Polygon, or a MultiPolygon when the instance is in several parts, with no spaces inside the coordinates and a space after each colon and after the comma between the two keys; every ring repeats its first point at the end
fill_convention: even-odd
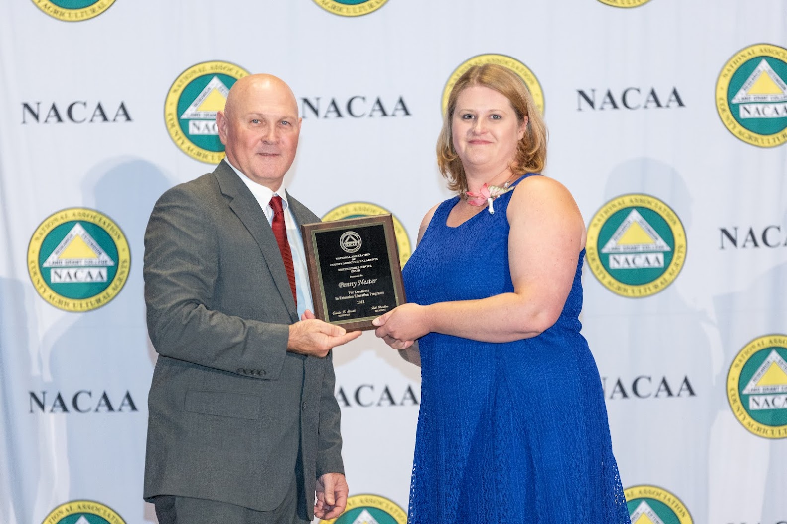
{"type": "Polygon", "coordinates": [[[28,272],[46,302],[90,311],[114,299],[128,278],[131,254],[123,231],[105,214],[71,207],[47,217],[28,246],[28,272]]]}

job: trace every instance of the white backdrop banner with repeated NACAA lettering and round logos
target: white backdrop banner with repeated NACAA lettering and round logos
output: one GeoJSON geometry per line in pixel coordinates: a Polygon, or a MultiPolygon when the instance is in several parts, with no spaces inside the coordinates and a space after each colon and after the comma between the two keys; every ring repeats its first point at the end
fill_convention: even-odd
{"type": "MultiPolygon", "coordinates": [[[[292,86],[290,192],[326,219],[392,213],[406,263],[451,196],[443,104],[483,63],[526,82],[545,174],[586,218],[583,332],[631,521],[787,522],[783,0],[6,2],[0,522],[156,522],[142,237],[162,192],[223,158],[236,80],[292,86]]],[[[334,363],[335,522],[404,524],[419,369],[371,333],[334,363]]]]}

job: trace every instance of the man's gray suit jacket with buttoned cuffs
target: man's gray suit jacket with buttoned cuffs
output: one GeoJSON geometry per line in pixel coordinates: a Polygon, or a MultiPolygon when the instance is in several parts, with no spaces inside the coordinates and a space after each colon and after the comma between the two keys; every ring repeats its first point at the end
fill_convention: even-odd
{"type": "MultiPolygon", "coordinates": [[[[299,224],[320,222],[287,200],[299,224]]],[[[298,468],[312,516],[316,478],[344,472],[331,355],[286,351],[288,324],[298,317],[279,247],[227,163],[158,200],[144,275],[159,353],[144,496],[267,511],[298,468]]]]}

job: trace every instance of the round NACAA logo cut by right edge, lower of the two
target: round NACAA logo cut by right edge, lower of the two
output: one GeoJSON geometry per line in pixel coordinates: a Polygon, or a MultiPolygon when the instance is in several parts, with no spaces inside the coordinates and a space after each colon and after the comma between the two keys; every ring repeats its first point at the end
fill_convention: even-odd
{"type": "Polygon", "coordinates": [[[787,437],[787,335],[764,335],[744,346],[727,374],[727,399],[748,431],[787,437]]]}

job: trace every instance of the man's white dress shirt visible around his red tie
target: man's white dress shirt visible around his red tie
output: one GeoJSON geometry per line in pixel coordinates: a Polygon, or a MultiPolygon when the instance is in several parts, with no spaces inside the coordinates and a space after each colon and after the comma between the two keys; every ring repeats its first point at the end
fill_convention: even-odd
{"type": "Polygon", "coordinates": [[[224,159],[225,162],[235,170],[238,177],[241,178],[246,187],[249,188],[251,194],[257,199],[260,204],[265,218],[268,218],[268,224],[273,220],[273,210],[270,206],[271,198],[278,195],[282,199],[282,208],[284,210],[284,225],[287,230],[287,242],[290,243],[290,251],[293,254],[293,266],[295,269],[295,294],[297,295],[297,316],[303,316],[305,310],[312,310],[312,288],[309,286],[309,266],[306,266],[306,251],[303,248],[303,237],[301,237],[301,230],[298,229],[295,223],[295,217],[290,210],[290,203],[287,202],[286,192],[284,188],[279,188],[279,191],[272,192],[264,185],[257,184],[252,181],[245,174],[242,174],[237,167],[233,166],[229,160],[224,159]]]}

